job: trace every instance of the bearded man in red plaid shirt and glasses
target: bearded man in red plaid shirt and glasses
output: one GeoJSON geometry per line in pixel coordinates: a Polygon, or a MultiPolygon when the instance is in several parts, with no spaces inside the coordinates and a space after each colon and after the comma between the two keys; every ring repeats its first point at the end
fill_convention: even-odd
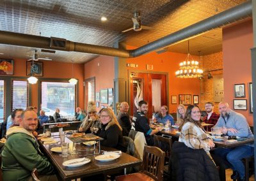
{"type": "MultiPolygon", "coordinates": [[[[207,115],[203,118],[203,121],[207,124],[213,124],[213,126],[218,122],[218,119],[220,118],[220,114],[213,112],[214,105],[211,102],[207,102],[204,105],[205,112],[207,115]]],[[[211,131],[212,126],[205,127],[205,130],[211,131]]]]}

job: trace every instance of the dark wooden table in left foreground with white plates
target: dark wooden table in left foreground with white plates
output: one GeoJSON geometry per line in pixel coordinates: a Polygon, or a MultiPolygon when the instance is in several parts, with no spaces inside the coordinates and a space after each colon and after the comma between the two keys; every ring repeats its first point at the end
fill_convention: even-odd
{"type": "MultiPolygon", "coordinates": [[[[49,160],[51,161],[51,163],[53,164],[53,166],[58,171],[57,175],[59,180],[72,180],[75,178],[88,177],[88,176],[97,175],[100,173],[107,175],[108,173],[111,173],[113,171],[122,170],[124,168],[136,166],[141,163],[140,159],[129,156],[128,154],[125,154],[123,152],[122,152],[122,155],[114,161],[99,162],[94,159],[95,156],[99,156],[99,154],[95,154],[95,156],[93,156],[92,151],[79,152],[79,151],[83,151],[90,148],[86,145],[83,145],[83,143],[76,143],[77,154],[68,154],[67,158],[63,158],[60,156],[60,154],[51,152],[51,148],[56,147],[56,145],[54,146],[43,145],[41,142],[40,142],[40,145],[43,148],[43,151],[45,152],[49,160]],[[62,165],[64,161],[67,161],[69,159],[82,158],[82,157],[91,159],[91,162],[76,168],[66,168],[65,166],[62,165]]],[[[101,149],[107,150],[107,151],[116,150],[115,148],[109,148],[109,147],[101,147],[101,149]]]]}

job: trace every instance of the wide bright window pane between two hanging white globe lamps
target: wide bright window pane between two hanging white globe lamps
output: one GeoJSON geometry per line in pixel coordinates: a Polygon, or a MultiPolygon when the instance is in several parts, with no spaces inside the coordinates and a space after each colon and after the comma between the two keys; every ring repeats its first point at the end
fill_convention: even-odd
{"type": "Polygon", "coordinates": [[[53,115],[56,108],[61,116],[75,114],[76,86],[65,82],[42,82],[42,109],[53,115]]]}

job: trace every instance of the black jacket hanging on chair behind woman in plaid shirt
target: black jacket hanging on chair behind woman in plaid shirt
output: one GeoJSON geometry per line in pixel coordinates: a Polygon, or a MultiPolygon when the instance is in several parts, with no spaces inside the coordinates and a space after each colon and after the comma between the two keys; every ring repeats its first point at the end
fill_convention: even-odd
{"type": "Polygon", "coordinates": [[[172,180],[220,180],[215,164],[203,149],[175,141],[172,145],[172,180]]]}

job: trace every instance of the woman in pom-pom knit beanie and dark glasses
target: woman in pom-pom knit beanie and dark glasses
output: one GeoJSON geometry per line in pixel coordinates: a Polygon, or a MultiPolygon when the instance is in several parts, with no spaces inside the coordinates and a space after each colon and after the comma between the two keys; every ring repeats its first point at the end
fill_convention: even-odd
{"type": "Polygon", "coordinates": [[[97,115],[95,103],[93,101],[88,102],[87,116],[82,121],[83,122],[78,129],[79,132],[97,133],[97,131],[99,130],[100,120],[99,116],[97,115]]]}

